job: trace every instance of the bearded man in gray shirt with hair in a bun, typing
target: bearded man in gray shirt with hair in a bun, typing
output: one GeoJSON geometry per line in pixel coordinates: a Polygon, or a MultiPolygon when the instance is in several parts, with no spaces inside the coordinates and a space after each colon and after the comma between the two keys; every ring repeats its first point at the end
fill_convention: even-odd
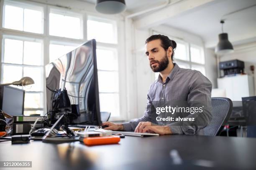
{"type": "MultiPolygon", "coordinates": [[[[160,72],[158,79],[151,84],[144,116],[123,124],[103,122],[106,130],[124,130],[138,133],[189,134],[203,135],[203,128],[210,123],[212,83],[197,70],[180,68],[173,63],[177,44],[164,35],[152,35],[145,42],[146,56],[154,72],[160,72]],[[194,101],[203,101],[206,105],[200,114],[200,124],[181,125],[180,122],[156,121],[152,113],[154,101],[187,101],[191,106],[194,101]]],[[[154,110],[155,111],[155,110],[154,110]]],[[[189,115],[191,116],[191,115],[189,115]]],[[[197,117],[198,118],[198,117],[197,117]]]]}

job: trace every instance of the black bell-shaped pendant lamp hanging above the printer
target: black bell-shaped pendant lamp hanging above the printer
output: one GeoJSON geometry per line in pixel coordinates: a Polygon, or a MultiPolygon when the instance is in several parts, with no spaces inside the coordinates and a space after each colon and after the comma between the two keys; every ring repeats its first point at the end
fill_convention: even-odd
{"type": "Polygon", "coordinates": [[[219,55],[234,52],[233,45],[228,40],[228,34],[219,34],[219,43],[215,48],[215,53],[219,55]]]}

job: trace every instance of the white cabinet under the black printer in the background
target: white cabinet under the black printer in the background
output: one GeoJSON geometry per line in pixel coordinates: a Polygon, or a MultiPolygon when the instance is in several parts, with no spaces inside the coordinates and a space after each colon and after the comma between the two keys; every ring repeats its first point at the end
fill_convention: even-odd
{"type": "Polygon", "coordinates": [[[253,77],[251,75],[218,78],[218,88],[225,89],[226,97],[232,101],[241,101],[241,97],[254,96],[253,77]]]}

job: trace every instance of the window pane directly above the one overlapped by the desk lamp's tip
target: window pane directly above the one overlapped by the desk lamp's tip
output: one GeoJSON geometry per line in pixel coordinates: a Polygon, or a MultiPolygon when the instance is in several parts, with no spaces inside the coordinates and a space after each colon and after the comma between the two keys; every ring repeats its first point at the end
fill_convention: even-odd
{"type": "Polygon", "coordinates": [[[24,60],[27,65],[42,65],[42,45],[40,42],[24,41],[24,60]]]}

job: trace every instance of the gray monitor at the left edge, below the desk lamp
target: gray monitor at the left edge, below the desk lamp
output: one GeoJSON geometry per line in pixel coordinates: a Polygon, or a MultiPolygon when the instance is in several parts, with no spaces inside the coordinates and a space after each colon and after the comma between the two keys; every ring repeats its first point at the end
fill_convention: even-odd
{"type": "Polygon", "coordinates": [[[0,110],[9,115],[23,115],[25,91],[11,86],[0,86],[0,110]]]}

